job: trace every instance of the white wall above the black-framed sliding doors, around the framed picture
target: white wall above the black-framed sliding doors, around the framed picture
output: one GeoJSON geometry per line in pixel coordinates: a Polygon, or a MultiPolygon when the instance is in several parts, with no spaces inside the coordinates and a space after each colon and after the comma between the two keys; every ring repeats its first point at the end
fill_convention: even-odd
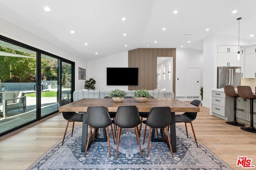
{"type": "Polygon", "coordinates": [[[28,31],[25,31],[20,27],[17,27],[6,20],[2,20],[1,18],[0,18],[0,25],[1,25],[0,35],[3,35],[10,39],[19,41],[26,45],[30,45],[37,49],[41,49],[48,53],[52,53],[64,59],[68,59],[70,61],[75,62],[75,90],[82,89],[84,87],[84,80],[78,79],[78,67],[86,69],[87,61],[68,53],[67,51],[57,47],[54,44],[51,44],[48,41],[45,41],[39,37],[36,37],[34,34],[29,33],[28,31]]]}

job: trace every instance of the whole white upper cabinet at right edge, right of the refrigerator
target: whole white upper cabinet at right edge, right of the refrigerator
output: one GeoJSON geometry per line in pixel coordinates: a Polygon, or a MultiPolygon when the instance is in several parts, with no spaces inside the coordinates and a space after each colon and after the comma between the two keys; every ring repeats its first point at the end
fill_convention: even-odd
{"type": "Polygon", "coordinates": [[[245,48],[244,77],[256,78],[256,46],[245,48]]]}

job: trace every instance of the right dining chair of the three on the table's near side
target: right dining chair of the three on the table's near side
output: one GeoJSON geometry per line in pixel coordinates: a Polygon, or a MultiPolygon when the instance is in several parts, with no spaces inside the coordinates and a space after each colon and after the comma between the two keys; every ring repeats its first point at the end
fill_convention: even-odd
{"type": "Polygon", "coordinates": [[[150,145],[150,135],[151,135],[151,129],[157,129],[160,128],[162,130],[162,135],[165,143],[165,135],[164,135],[164,129],[166,129],[166,135],[170,147],[170,151],[173,157],[172,152],[172,145],[170,141],[170,136],[168,133],[168,125],[172,123],[172,114],[170,107],[153,107],[150,112],[148,113],[148,118],[145,122],[145,131],[144,131],[144,138],[143,138],[143,144],[146,137],[146,128],[149,126],[149,132],[148,132],[148,149],[147,149],[147,158],[148,158],[148,152],[149,152],[149,145],[150,145]]]}

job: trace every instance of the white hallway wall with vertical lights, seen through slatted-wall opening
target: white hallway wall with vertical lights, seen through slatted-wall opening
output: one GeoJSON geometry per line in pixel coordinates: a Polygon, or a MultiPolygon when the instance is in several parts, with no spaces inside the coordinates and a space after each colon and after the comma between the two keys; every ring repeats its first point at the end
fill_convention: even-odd
{"type": "Polygon", "coordinates": [[[162,89],[162,88],[166,88],[166,90],[171,90],[173,91],[173,86],[172,86],[172,75],[173,75],[173,57],[168,57],[170,59],[168,59],[167,61],[160,63],[157,65],[157,72],[160,69],[161,70],[161,77],[159,80],[159,76],[157,77],[157,88],[158,89],[162,89]],[[170,79],[168,79],[168,65],[170,68],[170,79]],[[164,76],[165,79],[163,78],[163,67],[165,69],[164,71],[164,76]]]}

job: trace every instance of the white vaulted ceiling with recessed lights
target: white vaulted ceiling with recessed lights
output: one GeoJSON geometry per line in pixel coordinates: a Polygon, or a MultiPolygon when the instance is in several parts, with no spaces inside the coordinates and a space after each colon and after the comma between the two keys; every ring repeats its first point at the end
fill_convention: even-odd
{"type": "Polygon", "coordinates": [[[0,8],[0,18],[88,61],[137,48],[202,51],[213,33],[238,38],[239,17],[240,39],[256,41],[256,0],[0,0],[0,8]]]}

